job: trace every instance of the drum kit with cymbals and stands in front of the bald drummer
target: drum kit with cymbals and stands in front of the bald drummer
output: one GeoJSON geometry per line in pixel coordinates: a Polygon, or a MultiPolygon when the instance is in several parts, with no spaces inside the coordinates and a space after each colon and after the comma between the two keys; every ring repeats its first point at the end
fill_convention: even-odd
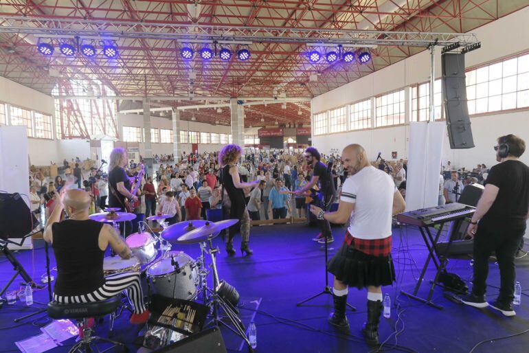
{"type": "MultiPolygon", "coordinates": [[[[112,223],[113,227],[119,228],[118,223],[126,220],[133,220],[135,214],[119,212],[119,209],[105,209],[105,212],[92,214],[92,220],[104,223],[112,223]]],[[[214,247],[212,240],[223,230],[238,223],[237,219],[221,220],[213,223],[207,220],[188,220],[174,225],[166,223],[167,218],[172,216],[158,214],[148,217],[147,220],[156,220],[161,226],[159,234],[151,229],[148,223],[139,222],[139,232],[131,234],[125,238],[128,247],[131,248],[133,257],[123,260],[119,256],[108,256],[104,258],[104,275],[113,275],[122,272],[140,273],[142,278],[142,288],[144,295],[150,298],[157,294],[173,299],[183,299],[194,301],[201,298],[203,304],[210,307],[213,326],[223,324],[232,332],[238,334],[247,341],[245,327],[237,315],[237,309],[233,303],[223,299],[219,295],[219,289],[225,284],[218,277],[216,267],[216,254],[218,247],[214,247]],[[145,229],[149,231],[145,231],[145,229]],[[179,244],[199,244],[201,254],[193,259],[183,251],[172,250],[173,246],[179,244]],[[207,254],[210,255],[211,263],[207,265],[207,254]],[[208,286],[207,277],[212,272],[212,288],[208,286]],[[234,328],[222,321],[219,315],[219,308],[223,309],[225,317],[231,321],[234,328]]],[[[124,308],[128,308],[125,304],[124,308]]],[[[113,320],[111,320],[111,330],[113,320]]],[[[249,343],[247,341],[247,343],[249,343]]]]}

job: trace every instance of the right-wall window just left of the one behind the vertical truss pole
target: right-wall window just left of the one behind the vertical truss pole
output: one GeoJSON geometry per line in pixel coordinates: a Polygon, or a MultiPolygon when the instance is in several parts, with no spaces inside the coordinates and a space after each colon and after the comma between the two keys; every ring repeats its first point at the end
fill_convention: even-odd
{"type": "Polygon", "coordinates": [[[375,98],[375,126],[405,123],[404,90],[375,98]]]}

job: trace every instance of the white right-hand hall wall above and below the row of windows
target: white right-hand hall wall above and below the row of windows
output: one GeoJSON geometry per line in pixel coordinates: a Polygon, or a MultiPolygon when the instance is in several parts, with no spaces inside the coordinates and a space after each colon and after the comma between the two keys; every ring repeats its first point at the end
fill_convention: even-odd
{"type": "MultiPolygon", "coordinates": [[[[529,8],[498,19],[472,31],[482,41],[482,47],[466,54],[466,67],[474,67],[509,55],[526,52],[529,49],[529,31],[527,21],[529,8]],[[504,38],[515,36],[515,41],[504,38]]],[[[394,65],[385,67],[368,76],[350,82],[333,91],[315,97],[311,102],[312,113],[334,109],[345,104],[358,102],[374,95],[380,95],[429,80],[429,52],[421,52],[394,65]]],[[[440,49],[436,55],[436,78],[441,76],[440,49]]],[[[477,163],[487,166],[495,164],[492,147],[500,135],[514,133],[529,144],[529,110],[510,113],[496,113],[471,117],[475,148],[469,150],[450,150],[448,138],[443,146],[444,161],[452,161],[455,166],[472,168],[477,163]]],[[[398,158],[408,157],[409,126],[374,128],[348,133],[313,135],[313,145],[328,153],[331,148],[341,149],[357,142],[365,146],[370,158],[376,158],[378,152],[391,159],[391,152],[397,151],[398,158]]],[[[529,151],[522,156],[529,163],[529,151]]]]}

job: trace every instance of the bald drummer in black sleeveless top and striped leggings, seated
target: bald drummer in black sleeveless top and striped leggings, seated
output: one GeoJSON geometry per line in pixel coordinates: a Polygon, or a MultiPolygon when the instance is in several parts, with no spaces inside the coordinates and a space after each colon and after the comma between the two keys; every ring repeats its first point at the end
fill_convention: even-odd
{"type": "Polygon", "coordinates": [[[44,240],[52,244],[57,262],[54,300],[59,303],[102,301],[126,291],[134,308],[131,323],[145,323],[146,310],[139,273],[117,273],[104,277],[103,258],[110,247],[122,259],[131,249],[108,224],[89,219],[90,195],[84,190],[56,192],[56,207],[46,223],[44,240]],[[60,220],[65,210],[69,219],[60,220]]]}

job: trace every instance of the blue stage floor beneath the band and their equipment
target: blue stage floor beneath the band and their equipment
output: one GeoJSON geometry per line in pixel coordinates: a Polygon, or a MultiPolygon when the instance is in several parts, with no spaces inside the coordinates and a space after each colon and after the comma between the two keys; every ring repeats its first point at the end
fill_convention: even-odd
{"type": "MultiPolygon", "coordinates": [[[[305,306],[295,304],[306,297],[314,295],[324,288],[324,251],[311,241],[317,229],[306,225],[274,225],[251,228],[251,247],[254,255],[243,258],[240,252],[234,258],[227,258],[225,251],[218,258],[218,272],[221,279],[234,285],[241,297],[262,298],[259,312],[256,313],[258,348],[257,352],[369,352],[370,348],[363,343],[360,328],[365,321],[366,292],[350,289],[348,301],[357,311],[348,312],[351,330],[349,336],[338,334],[331,328],[326,317],[332,310],[332,297],[324,295],[310,301],[305,306]]],[[[334,228],[335,242],[339,247],[344,236],[344,229],[334,228]]],[[[236,249],[240,241],[236,238],[236,249]]],[[[222,240],[214,242],[223,250],[222,240]]],[[[45,273],[45,252],[43,243],[37,241],[34,251],[19,251],[16,257],[33,276],[40,280],[45,273]]],[[[470,352],[473,346],[483,340],[474,352],[528,352],[529,333],[510,339],[490,342],[495,337],[516,334],[529,329],[529,256],[517,260],[517,278],[525,290],[521,306],[516,306],[517,316],[506,318],[491,309],[475,309],[455,304],[442,295],[441,288],[436,288],[434,301],[444,306],[437,310],[431,306],[399,295],[399,291],[412,291],[416,277],[425,261],[427,249],[420,234],[413,227],[394,228],[393,258],[397,273],[394,286],[383,288],[390,293],[392,308],[390,319],[382,319],[380,327],[381,341],[387,339],[384,350],[401,352],[470,352]],[[526,289],[527,288],[527,289],[526,289]],[[394,334],[396,331],[397,335],[394,334]],[[396,336],[396,337],[395,337],[396,336]]],[[[198,245],[175,246],[173,250],[182,250],[196,258],[199,255],[198,245]]],[[[331,250],[330,253],[334,253],[331,250]]],[[[54,258],[52,256],[52,266],[54,258]]],[[[487,298],[494,299],[499,285],[497,265],[491,262],[487,298]]],[[[449,271],[471,280],[469,260],[450,260],[449,271]]],[[[0,286],[5,285],[12,274],[12,266],[5,258],[0,258],[0,286]]],[[[434,276],[431,265],[419,295],[427,295],[427,281],[434,276]]],[[[332,280],[329,276],[329,280],[332,280]]],[[[12,289],[18,288],[20,279],[12,289]]],[[[469,284],[469,286],[471,286],[469,284]]],[[[47,291],[34,293],[34,300],[45,303],[47,291]]],[[[0,352],[16,352],[15,341],[39,333],[46,318],[27,319],[18,325],[13,323],[15,317],[31,312],[35,308],[3,306],[0,308],[0,352]],[[10,326],[16,325],[12,328],[10,326]]],[[[241,309],[246,310],[245,308],[241,309]]],[[[247,313],[245,313],[247,315],[247,313]]],[[[42,317],[42,316],[41,316],[42,317]]],[[[107,322],[98,329],[105,335],[107,322]]],[[[137,329],[131,329],[128,315],[122,315],[117,321],[115,336],[117,341],[127,343],[135,352],[139,345],[137,329]]],[[[237,352],[240,340],[223,330],[229,352],[237,352]]],[[[67,352],[74,344],[73,339],[65,341],[63,347],[50,352],[67,352]]],[[[243,348],[243,352],[246,349],[243,348]]]]}

